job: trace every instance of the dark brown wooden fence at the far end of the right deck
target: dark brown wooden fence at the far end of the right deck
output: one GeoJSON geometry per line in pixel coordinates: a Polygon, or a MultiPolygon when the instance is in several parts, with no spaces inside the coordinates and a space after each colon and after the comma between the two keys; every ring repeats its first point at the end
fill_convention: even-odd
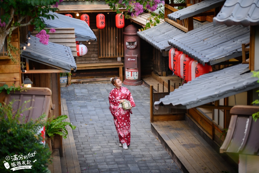
{"type": "MultiPolygon", "coordinates": [[[[168,87],[170,88],[170,80],[168,80],[168,87]]],[[[158,110],[154,109],[154,102],[159,101],[166,95],[169,95],[170,89],[164,92],[164,82],[163,82],[163,92],[159,92],[159,84],[157,84],[157,92],[154,92],[153,85],[150,85],[150,122],[155,121],[176,121],[185,119],[185,109],[168,108],[160,106],[158,110]]]]}

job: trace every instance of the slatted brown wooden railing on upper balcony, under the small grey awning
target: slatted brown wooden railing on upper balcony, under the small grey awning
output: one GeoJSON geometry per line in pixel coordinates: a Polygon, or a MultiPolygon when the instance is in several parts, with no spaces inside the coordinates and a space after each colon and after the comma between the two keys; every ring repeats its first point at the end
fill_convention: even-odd
{"type": "Polygon", "coordinates": [[[174,20],[168,19],[167,17],[168,14],[178,11],[176,8],[172,6],[183,6],[183,4],[164,4],[164,20],[184,32],[193,30],[193,17],[189,17],[183,20],[177,19],[177,22],[175,22],[174,20]]]}

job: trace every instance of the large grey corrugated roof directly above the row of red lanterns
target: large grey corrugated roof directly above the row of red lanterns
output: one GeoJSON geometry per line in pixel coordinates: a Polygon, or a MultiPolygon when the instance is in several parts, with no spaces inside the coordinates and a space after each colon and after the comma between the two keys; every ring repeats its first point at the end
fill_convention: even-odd
{"type": "Polygon", "coordinates": [[[242,55],[242,43],[249,43],[250,28],[202,25],[176,35],[168,43],[205,65],[214,65],[242,55]]]}

